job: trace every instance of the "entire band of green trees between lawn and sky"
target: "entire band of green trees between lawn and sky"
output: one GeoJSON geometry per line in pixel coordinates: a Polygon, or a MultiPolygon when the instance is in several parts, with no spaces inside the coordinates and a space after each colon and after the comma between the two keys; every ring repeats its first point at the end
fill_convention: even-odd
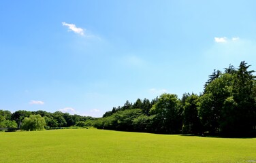
{"type": "MultiPolygon", "coordinates": [[[[101,118],[48,113],[46,111],[0,110],[0,128],[61,128],[94,126],[108,130],[161,134],[217,134],[249,136],[256,133],[256,82],[250,65],[240,62],[224,71],[214,70],[197,94],[161,94],[152,101],[138,98],[135,103],[113,107],[101,118]],[[29,127],[40,122],[42,126],[29,127]],[[31,126],[31,125],[30,125],[31,126]]],[[[36,126],[36,125],[34,125],[36,126]]]]}

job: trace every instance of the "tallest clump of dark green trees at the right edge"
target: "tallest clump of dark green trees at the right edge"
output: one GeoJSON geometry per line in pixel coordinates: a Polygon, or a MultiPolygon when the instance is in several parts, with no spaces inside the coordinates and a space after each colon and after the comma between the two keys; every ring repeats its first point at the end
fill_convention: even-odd
{"type": "Polygon", "coordinates": [[[229,65],[205,87],[199,106],[204,130],[229,136],[255,130],[256,86],[254,71],[249,67],[244,61],[238,69],[229,65]]]}

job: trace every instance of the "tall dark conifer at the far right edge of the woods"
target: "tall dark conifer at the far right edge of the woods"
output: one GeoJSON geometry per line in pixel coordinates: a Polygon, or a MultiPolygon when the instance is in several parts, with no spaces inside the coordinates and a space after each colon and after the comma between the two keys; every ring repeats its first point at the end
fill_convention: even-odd
{"type": "Polygon", "coordinates": [[[255,76],[254,71],[248,70],[249,67],[246,62],[240,62],[234,79],[233,96],[225,101],[225,109],[229,109],[225,115],[229,113],[233,117],[230,123],[225,122],[225,133],[248,134],[255,127],[255,76]]]}

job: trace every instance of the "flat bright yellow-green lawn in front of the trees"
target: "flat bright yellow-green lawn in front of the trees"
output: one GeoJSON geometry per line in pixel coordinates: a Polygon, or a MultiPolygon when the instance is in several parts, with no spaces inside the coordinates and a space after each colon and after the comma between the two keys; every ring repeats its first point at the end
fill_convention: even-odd
{"type": "Polygon", "coordinates": [[[0,162],[256,162],[256,139],[96,129],[0,132],[0,162]]]}

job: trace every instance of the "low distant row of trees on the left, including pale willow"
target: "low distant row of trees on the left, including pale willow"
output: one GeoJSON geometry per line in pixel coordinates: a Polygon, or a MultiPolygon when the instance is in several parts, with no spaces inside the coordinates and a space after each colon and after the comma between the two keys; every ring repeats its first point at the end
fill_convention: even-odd
{"type": "Polygon", "coordinates": [[[44,130],[70,126],[92,126],[94,117],[70,115],[56,111],[10,111],[0,110],[0,128],[21,128],[22,130],[44,130]]]}

